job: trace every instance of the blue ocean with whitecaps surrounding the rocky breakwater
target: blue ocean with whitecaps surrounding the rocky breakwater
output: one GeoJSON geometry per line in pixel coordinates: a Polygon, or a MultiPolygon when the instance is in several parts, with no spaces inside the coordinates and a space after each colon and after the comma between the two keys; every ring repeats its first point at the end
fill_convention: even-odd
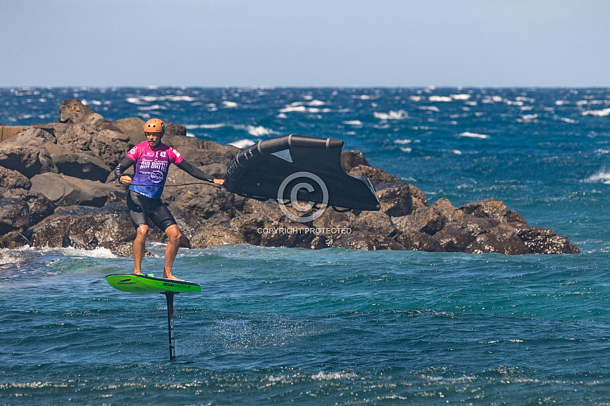
{"type": "Polygon", "coordinates": [[[430,203],[494,197],[582,254],[181,249],[202,292],[175,297],[171,362],[164,296],[104,279],[132,258],[2,249],[0,404],[610,403],[610,89],[5,88],[0,122],[69,98],[242,148],[342,139],[430,203]]]}

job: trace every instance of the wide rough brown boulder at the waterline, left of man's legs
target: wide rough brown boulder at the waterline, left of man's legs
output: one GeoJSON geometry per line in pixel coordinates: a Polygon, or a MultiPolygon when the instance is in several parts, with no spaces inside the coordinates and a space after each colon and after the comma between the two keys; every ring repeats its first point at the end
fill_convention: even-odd
{"type": "Polygon", "coordinates": [[[107,242],[132,242],[136,230],[127,206],[112,203],[101,208],[59,207],[32,229],[35,247],[94,249],[107,242]]]}

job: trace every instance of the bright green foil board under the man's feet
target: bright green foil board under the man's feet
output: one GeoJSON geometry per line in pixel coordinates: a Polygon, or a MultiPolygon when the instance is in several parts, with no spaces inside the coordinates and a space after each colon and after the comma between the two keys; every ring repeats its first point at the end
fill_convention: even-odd
{"type": "Polygon", "coordinates": [[[106,276],[112,288],[132,293],[180,293],[201,292],[197,283],[155,278],[154,276],[135,274],[112,274],[106,276]]]}

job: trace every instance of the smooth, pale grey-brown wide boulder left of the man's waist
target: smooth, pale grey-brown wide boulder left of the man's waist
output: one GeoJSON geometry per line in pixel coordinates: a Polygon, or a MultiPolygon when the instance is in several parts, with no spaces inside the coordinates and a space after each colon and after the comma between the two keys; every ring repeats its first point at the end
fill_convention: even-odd
{"type": "Polygon", "coordinates": [[[57,206],[103,206],[116,186],[57,173],[42,173],[31,179],[30,191],[42,193],[57,206]]]}

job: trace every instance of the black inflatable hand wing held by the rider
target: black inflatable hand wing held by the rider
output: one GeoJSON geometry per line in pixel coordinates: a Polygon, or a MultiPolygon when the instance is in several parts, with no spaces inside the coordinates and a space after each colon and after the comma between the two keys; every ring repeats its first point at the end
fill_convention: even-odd
{"type": "Polygon", "coordinates": [[[227,166],[225,186],[258,200],[313,202],[355,210],[379,210],[369,179],[341,168],[340,139],[287,135],[265,139],[227,166]]]}

